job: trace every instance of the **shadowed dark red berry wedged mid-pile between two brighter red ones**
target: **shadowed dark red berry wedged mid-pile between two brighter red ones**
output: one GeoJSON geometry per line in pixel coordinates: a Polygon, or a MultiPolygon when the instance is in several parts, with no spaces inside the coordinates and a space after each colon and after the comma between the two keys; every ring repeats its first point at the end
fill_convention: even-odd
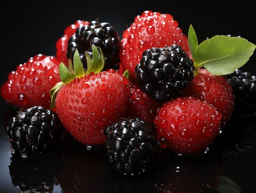
{"type": "Polygon", "coordinates": [[[132,84],[130,88],[132,96],[128,116],[130,118],[143,119],[153,126],[153,119],[161,103],[156,102],[148,94],[142,92],[138,84],[132,84]]]}

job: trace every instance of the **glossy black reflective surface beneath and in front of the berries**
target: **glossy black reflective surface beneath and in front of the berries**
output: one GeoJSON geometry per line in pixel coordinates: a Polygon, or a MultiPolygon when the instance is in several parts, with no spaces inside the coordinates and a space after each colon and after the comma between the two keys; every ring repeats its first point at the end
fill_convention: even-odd
{"type": "MultiPolygon", "coordinates": [[[[4,113],[3,127],[13,114],[16,111],[11,107],[4,113]]],[[[256,171],[255,118],[233,117],[205,154],[188,157],[164,149],[158,155],[155,169],[137,177],[117,174],[108,163],[104,147],[86,148],[68,133],[64,133],[63,140],[52,155],[40,159],[22,159],[15,152],[11,153],[11,146],[2,128],[1,191],[250,192],[254,187],[256,171]]]]}

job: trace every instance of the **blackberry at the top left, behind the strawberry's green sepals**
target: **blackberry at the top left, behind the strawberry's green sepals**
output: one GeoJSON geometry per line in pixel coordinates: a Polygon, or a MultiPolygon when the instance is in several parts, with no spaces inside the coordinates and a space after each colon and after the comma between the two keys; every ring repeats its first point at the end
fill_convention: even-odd
{"type": "Polygon", "coordinates": [[[85,52],[92,57],[92,45],[101,48],[105,59],[105,67],[103,70],[110,68],[119,70],[119,50],[121,41],[115,28],[108,22],[92,21],[89,25],[83,25],[76,29],[67,45],[67,59],[73,62],[75,49],[77,48],[83,67],[87,69],[87,61],[85,52]]]}

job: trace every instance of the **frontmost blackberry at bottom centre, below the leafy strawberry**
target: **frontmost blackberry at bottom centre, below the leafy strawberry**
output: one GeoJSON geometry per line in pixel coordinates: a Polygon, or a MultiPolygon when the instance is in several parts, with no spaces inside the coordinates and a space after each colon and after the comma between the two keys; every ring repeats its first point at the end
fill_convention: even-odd
{"type": "Polygon", "coordinates": [[[118,173],[139,175],[154,167],[159,149],[145,121],[121,118],[105,128],[105,135],[108,159],[118,173]]]}

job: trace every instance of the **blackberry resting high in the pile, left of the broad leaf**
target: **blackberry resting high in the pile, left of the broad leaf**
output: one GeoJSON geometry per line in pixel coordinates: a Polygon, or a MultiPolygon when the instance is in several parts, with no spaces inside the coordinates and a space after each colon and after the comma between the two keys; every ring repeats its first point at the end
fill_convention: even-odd
{"type": "Polygon", "coordinates": [[[194,78],[195,67],[180,45],[146,49],[135,67],[135,77],[143,92],[157,102],[182,95],[194,78]]]}

